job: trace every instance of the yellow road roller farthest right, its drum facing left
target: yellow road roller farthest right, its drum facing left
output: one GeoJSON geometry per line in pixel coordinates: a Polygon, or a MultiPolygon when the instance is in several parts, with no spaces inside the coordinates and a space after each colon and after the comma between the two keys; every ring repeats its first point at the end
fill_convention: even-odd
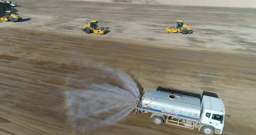
{"type": "Polygon", "coordinates": [[[171,25],[170,27],[167,28],[166,31],[171,33],[181,32],[182,34],[193,33],[192,28],[188,26],[188,24],[184,24],[183,20],[177,20],[176,27],[174,25],[171,25]]]}

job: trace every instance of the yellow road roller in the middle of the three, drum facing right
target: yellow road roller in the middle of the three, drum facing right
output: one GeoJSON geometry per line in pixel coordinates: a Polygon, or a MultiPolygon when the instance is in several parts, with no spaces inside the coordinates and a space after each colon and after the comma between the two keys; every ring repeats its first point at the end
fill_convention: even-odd
{"type": "Polygon", "coordinates": [[[97,20],[91,20],[90,24],[85,24],[82,28],[82,31],[89,34],[89,33],[96,33],[96,34],[104,34],[107,29],[104,27],[100,27],[98,26],[98,21],[97,20]]]}

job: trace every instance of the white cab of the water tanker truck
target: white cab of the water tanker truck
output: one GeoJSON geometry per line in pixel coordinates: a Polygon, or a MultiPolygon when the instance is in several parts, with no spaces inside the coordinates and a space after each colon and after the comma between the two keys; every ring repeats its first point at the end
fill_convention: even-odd
{"type": "Polygon", "coordinates": [[[222,134],[224,127],[225,106],[221,99],[203,96],[201,103],[200,127],[206,135],[212,132],[222,134]]]}

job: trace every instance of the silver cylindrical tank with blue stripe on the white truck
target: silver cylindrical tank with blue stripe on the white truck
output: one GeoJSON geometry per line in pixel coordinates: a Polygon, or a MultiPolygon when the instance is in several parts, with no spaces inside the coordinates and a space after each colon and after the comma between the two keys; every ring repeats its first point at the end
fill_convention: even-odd
{"type": "Polygon", "coordinates": [[[201,103],[196,97],[146,89],[141,102],[143,111],[191,120],[199,120],[200,117],[201,103]]]}

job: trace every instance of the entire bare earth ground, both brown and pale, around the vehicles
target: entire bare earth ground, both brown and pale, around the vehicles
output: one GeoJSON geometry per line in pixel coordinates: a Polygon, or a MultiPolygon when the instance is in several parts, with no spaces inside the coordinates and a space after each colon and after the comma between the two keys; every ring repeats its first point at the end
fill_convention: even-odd
{"type": "Polygon", "coordinates": [[[24,21],[0,23],[0,135],[202,135],[134,113],[95,131],[72,127],[67,78],[108,81],[88,61],[125,71],[140,87],[214,92],[232,116],[223,134],[255,135],[255,9],[17,2],[24,21]],[[91,19],[110,32],[81,32],[91,19]],[[194,33],[165,33],[178,19],[194,33]]]}

